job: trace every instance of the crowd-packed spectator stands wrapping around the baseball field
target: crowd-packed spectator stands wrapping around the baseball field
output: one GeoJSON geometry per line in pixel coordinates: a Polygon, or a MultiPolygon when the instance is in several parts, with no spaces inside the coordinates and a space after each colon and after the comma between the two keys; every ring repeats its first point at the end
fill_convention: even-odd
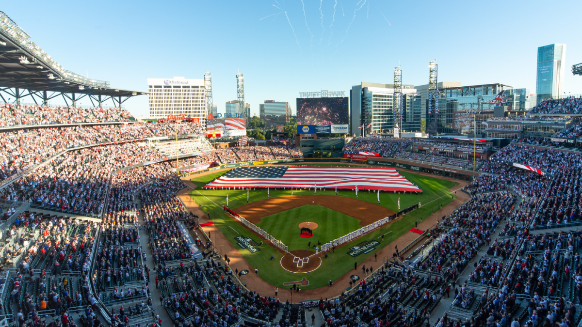
{"type": "MultiPolygon", "coordinates": [[[[184,154],[196,154],[180,160],[183,168],[297,158],[300,151],[266,146],[211,151],[204,138],[196,137],[201,128],[194,123],[143,124],[115,108],[3,105],[0,118],[8,125],[0,129],[0,254],[1,313],[9,324],[580,323],[578,151],[541,146],[544,140],[516,140],[496,151],[493,160],[478,163],[480,176],[466,185],[466,201],[457,198],[421,223],[431,236],[420,247],[399,251],[387,262],[368,259],[375,271],[349,291],[345,276],[334,287],[294,298],[312,301],[290,304],[288,292],[275,297],[274,288],[253,274],[246,277],[256,277],[257,283],[247,283],[250,289],[239,282],[232,268],[245,267],[242,257],[236,250],[229,252],[230,262],[217,255],[217,239],[211,241],[205,231],[219,233],[212,225],[201,227],[209,221],[186,196],[189,189],[175,175],[176,162],[157,150],[163,144],[146,141],[173,136],[176,128],[194,134],[182,138],[188,143],[184,154]]],[[[358,138],[345,151],[472,165],[438,155],[416,157],[410,151],[415,141],[423,142],[358,138]]],[[[398,248],[409,241],[399,239],[398,248]]],[[[379,257],[391,257],[391,247],[383,251],[379,257]]]]}

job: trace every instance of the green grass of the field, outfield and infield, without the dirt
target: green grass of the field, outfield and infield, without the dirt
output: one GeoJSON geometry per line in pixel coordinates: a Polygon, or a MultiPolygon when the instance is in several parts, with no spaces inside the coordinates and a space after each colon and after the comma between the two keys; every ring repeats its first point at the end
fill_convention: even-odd
{"type": "MultiPolygon", "coordinates": [[[[302,163],[301,165],[308,165],[308,164],[302,163]]],[[[341,165],[338,163],[338,164],[331,164],[331,165],[316,164],[315,166],[349,166],[349,165],[341,165]]],[[[381,193],[380,200],[381,200],[382,207],[386,207],[388,209],[391,209],[394,212],[397,212],[398,211],[398,198],[400,197],[400,208],[401,209],[410,207],[411,205],[418,204],[418,202],[421,202],[422,207],[420,209],[416,209],[413,212],[410,212],[410,214],[405,215],[403,217],[403,219],[400,219],[399,221],[395,221],[393,223],[390,223],[390,224],[388,224],[388,225],[386,225],[383,228],[380,228],[378,230],[375,230],[375,232],[372,232],[359,240],[352,241],[352,243],[348,243],[340,248],[336,248],[335,253],[330,253],[328,255],[328,258],[324,259],[321,267],[319,269],[317,269],[316,271],[310,272],[310,273],[296,274],[296,273],[291,273],[291,272],[285,271],[285,269],[283,269],[281,267],[281,265],[279,264],[279,261],[281,260],[282,254],[279,253],[278,251],[276,251],[273,247],[269,246],[267,243],[264,243],[260,247],[261,250],[258,252],[255,252],[255,253],[250,253],[248,250],[240,248],[237,245],[237,242],[235,240],[235,237],[237,237],[237,236],[251,237],[251,239],[254,239],[255,241],[258,241],[258,237],[254,236],[253,233],[249,232],[249,230],[244,228],[244,226],[241,225],[239,222],[230,218],[230,216],[225,215],[224,212],[222,211],[222,205],[226,204],[226,195],[228,194],[229,207],[235,209],[235,211],[236,211],[237,207],[240,207],[241,205],[246,204],[246,201],[247,201],[246,191],[243,191],[243,190],[212,191],[212,190],[201,189],[202,186],[204,186],[205,184],[218,178],[223,173],[226,173],[226,172],[217,172],[217,173],[211,173],[208,175],[193,177],[193,179],[191,179],[191,182],[196,184],[197,189],[190,191],[190,196],[193,197],[194,201],[196,201],[196,203],[203,209],[204,212],[210,212],[212,221],[215,223],[215,226],[217,226],[217,228],[219,230],[221,230],[222,234],[226,237],[226,239],[228,239],[230,241],[230,243],[233,244],[233,246],[239,251],[240,254],[242,254],[243,258],[247,262],[249,262],[249,264],[251,266],[258,268],[259,275],[261,276],[262,279],[264,279],[268,283],[271,283],[271,285],[278,286],[278,287],[282,288],[283,287],[282,284],[285,282],[293,282],[295,280],[301,280],[302,278],[305,277],[305,278],[307,278],[307,280],[309,280],[310,285],[305,286],[305,287],[301,287],[301,289],[315,289],[317,287],[326,286],[327,282],[330,279],[336,280],[336,279],[340,278],[342,275],[344,275],[346,272],[349,272],[350,270],[353,271],[354,261],[357,261],[358,263],[360,263],[360,262],[364,261],[365,259],[373,256],[374,253],[377,252],[378,250],[381,250],[382,247],[385,247],[386,245],[391,243],[393,240],[398,239],[398,237],[402,236],[402,234],[406,233],[408,230],[413,228],[414,222],[420,222],[421,217],[426,218],[426,217],[431,215],[432,210],[438,211],[438,209],[440,209],[441,205],[449,204],[449,202],[452,201],[452,196],[454,196],[454,194],[449,194],[448,189],[457,184],[455,182],[451,182],[448,180],[441,180],[441,179],[438,179],[435,177],[422,176],[422,175],[417,175],[415,173],[400,171],[400,174],[402,176],[404,176],[407,180],[409,180],[410,182],[413,182],[418,187],[420,187],[420,189],[423,190],[423,194],[415,195],[415,194],[381,193]],[[347,252],[349,251],[349,247],[352,247],[352,246],[360,243],[363,240],[375,239],[375,240],[379,241],[382,234],[385,234],[384,242],[382,242],[381,245],[376,248],[376,251],[373,251],[373,252],[368,253],[368,254],[361,254],[361,255],[357,256],[356,258],[353,258],[347,254],[347,252]],[[275,260],[269,260],[269,258],[271,258],[271,256],[273,256],[275,258],[275,260]]],[[[269,193],[270,193],[271,198],[291,195],[289,190],[270,190],[269,193]]],[[[313,191],[307,191],[307,190],[294,190],[293,194],[295,194],[295,195],[302,195],[303,194],[303,195],[314,196],[313,191]]],[[[318,190],[317,194],[318,195],[335,196],[335,191],[334,190],[329,190],[329,191],[318,190]]],[[[354,191],[348,191],[348,190],[338,191],[338,201],[341,201],[340,200],[341,197],[356,198],[356,194],[354,193],[354,191]]],[[[264,190],[260,190],[260,191],[259,190],[257,190],[257,191],[251,190],[250,191],[249,202],[260,201],[260,200],[264,200],[266,198],[267,198],[267,191],[264,191],[264,190]]],[[[367,191],[360,191],[359,192],[359,200],[368,201],[368,202],[371,202],[374,204],[378,203],[376,194],[375,193],[368,193],[367,191]]],[[[295,208],[292,210],[296,210],[296,209],[300,209],[300,208],[295,208]]],[[[292,211],[292,210],[289,210],[289,211],[292,211]]],[[[286,212],[289,212],[289,211],[286,211],[286,212]]],[[[330,211],[331,211],[331,213],[335,212],[332,210],[330,210],[330,211]]],[[[276,214],[276,215],[262,218],[261,223],[259,225],[261,226],[261,228],[263,228],[267,232],[273,234],[275,237],[278,237],[278,239],[280,239],[280,240],[284,241],[284,237],[290,237],[291,238],[290,242],[292,244],[294,244],[294,242],[295,242],[293,240],[294,235],[285,236],[285,234],[289,232],[288,225],[293,226],[292,233],[297,234],[296,237],[301,239],[301,237],[299,237],[299,234],[296,233],[297,224],[299,224],[299,222],[303,222],[305,220],[301,219],[301,221],[286,222],[284,225],[283,222],[280,222],[280,221],[283,220],[281,218],[284,218],[286,212],[281,212],[281,213],[276,214]],[[275,219],[271,219],[271,218],[275,218],[275,219]],[[265,224],[265,225],[263,226],[262,224],[265,224]],[[279,237],[278,235],[280,235],[281,237],[279,237]]],[[[325,214],[328,215],[331,213],[325,213],[325,214]]],[[[324,214],[323,212],[321,214],[318,214],[318,217],[320,219],[324,219],[324,218],[322,218],[323,214],[324,214]]],[[[339,212],[337,214],[339,214],[339,212]]],[[[314,214],[312,214],[310,216],[313,218],[310,218],[308,221],[317,222],[317,221],[314,221],[314,219],[316,219],[314,214]]],[[[349,218],[349,219],[354,219],[354,218],[349,218]]],[[[345,219],[345,220],[349,221],[349,219],[345,219]]],[[[356,219],[354,219],[354,220],[356,220],[356,219]]],[[[319,222],[317,222],[317,223],[319,223],[319,222]]],[[[321,228],[321,225],[320,225],[320,228],[321,228]]],[[[329,229],[329,226],[326,229],[329,229]]],[[[357,227],[356,227],[356,229],[357,229],[357,227]]],[[[316,229],[315,231],[317,231],[317,230],[318,229],[316,229]]],[[[346,230],[347,230],[347,228],[346,228],[346,230]]],[[[289,233],[289,234],[292,234],[292,233],[289,233]]],[[[338,229],[338,233],[339,233],[339,229],[338,229]]],[[[313,239],[315,239],[317,242],[317,239],[315,237],[313,237],[313,239]]],[[[212,240],[214,241],[214,236],[212,236],[212,240]]],[[[303,240],[303,241],[302,242],[299,241],[299,244],[303,244],[303,247],[299,246],[299,248],[307,250],[307,241],[309,241],[311,239],[301,239],[301,240],[303,240]]],[[[323,244],[324,240],[322,239],[321,241],[323,244]]],[[[284,241],[284,243],[287,244],[286,241],[284,241]]],[[[312,241],[312,243],[313,243],[313,241],[312,241]]],[[[225,244],[216,244],[215,243],[215,246],[217,246],[217,248],[219,250],[221,250],[221,248],[223,246],[225,246],[225,244]]],[[[290,244],[288,244],[288,246],[294,247],[294,245],[290,245],[290,244]]],[[[385,260],[385,258],[378,258],[378,266],[380,266],[381,261],[383,262],[384,260],[385,260]]],[[[378,267],[374,267],[374,268],[378,268],[378,267]]],[[[361,271],[359,270],[358,272],[361,272],[361,271]]],[[[242,281],[244,282],[244,276],[242,278],[242,281]]],[[[348,287],[349,285],[345,285],[345,286],[348,287]]]]}

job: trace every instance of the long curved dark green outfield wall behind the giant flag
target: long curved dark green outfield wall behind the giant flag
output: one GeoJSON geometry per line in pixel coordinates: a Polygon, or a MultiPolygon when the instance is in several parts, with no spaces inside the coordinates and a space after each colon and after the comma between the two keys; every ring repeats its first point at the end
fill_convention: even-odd
{"type": "MultiPolygon", "coordinates": [[[[189,172],[182,174],[183,177],[196,175],[205,172],[211,172],[217,169],[225,168],[237,168],[237,167],[247,167],[247,166],[260,166],[260,165],[273,165],[277,163],[301,163],[301,162],[342,162],[342,163],[363,163],[372,166],[388,166],[393,168],[409,169],[417,172],[432,173],[434,175],[441,175],[446,177],[453,177],[456,179],[470,180],[473,177],[473,172],[471,170],[463,169],[452,169],[437,165],[427,165],[425,163],[414,163],[406,162],[400,159],[393,158],[375,158],[368,157],[367,160],[358,159],[346,159],[346,158],[299,158],[299,159],[279,159],[279,160],[265,160],[265,161],[249,161],[249,162],[236,162],[228,163],[226,165],[218,165],[209,169],[198,170],[197,172],[189,172]]],[[[475,176],[479,173],[475,172],[475,176]]]]}

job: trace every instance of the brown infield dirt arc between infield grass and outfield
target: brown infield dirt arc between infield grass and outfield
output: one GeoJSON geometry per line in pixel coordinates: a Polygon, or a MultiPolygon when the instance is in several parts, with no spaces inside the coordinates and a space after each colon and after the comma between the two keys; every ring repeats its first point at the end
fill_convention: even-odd
{"type": "Polygon", "coordinates": [[[346,197],[341,197],[341,200],[338,201],[338,197],[336,196],[286,196],[268,198],[241,205],[233,210],[247,219],[247,221],[257,225],[261,222],[262,217],[278,214],[279,212],[308,204],[318,204],[346,216],[356,218],[360,221],[360,226],[362,227],[394,214],[392,210],[386,209],[381,205],[346,197]]]}

